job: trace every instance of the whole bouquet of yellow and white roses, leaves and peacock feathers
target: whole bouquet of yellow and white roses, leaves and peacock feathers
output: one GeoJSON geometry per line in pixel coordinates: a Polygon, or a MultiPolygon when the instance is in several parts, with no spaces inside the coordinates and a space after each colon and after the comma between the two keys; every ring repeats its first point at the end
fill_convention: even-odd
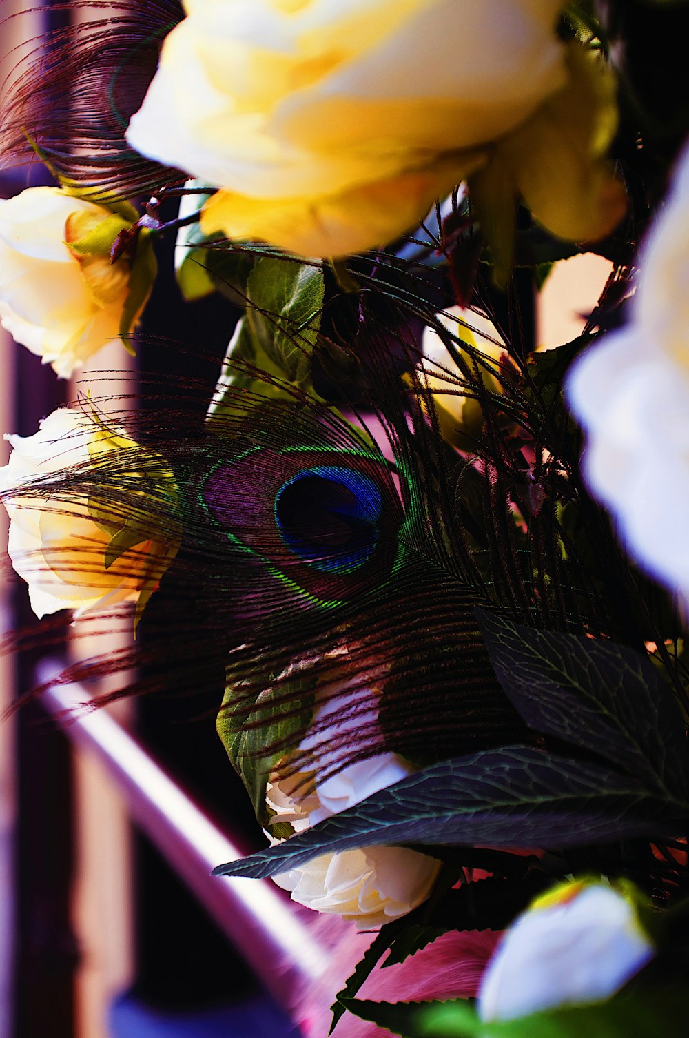
{"type": "Polygon", "coordinates": [[[269,843],[216,872],[375,931],[336,1034],[681,1038],[686,6],[74,7],[2,99],[54,182],[0,201],[3,326],[67,378],[162,279],[231,320],[208,392],[8,436],[34,612],[215,691],[269,843]]]}

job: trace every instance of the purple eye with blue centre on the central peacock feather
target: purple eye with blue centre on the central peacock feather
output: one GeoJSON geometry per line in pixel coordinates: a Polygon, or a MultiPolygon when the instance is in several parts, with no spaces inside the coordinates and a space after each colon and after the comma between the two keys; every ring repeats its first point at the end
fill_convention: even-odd
{"type": "Polygon", "coordinates": [[[199,498],[238,549],[323,604],[384,581],[398,553],[402,502],[373,450],[253,446],[217,464],[199,498]]]}

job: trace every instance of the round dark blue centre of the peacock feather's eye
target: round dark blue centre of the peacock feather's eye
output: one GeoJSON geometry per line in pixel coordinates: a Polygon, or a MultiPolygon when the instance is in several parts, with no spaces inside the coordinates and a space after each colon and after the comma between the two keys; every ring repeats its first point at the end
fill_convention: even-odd
{"type": "Polygon", "coordinates": [[[282,543],[329,573],[350,573],[376,550],[383,499],[368,476],[337,465],[303,469],[275,497],[282,543]]]}

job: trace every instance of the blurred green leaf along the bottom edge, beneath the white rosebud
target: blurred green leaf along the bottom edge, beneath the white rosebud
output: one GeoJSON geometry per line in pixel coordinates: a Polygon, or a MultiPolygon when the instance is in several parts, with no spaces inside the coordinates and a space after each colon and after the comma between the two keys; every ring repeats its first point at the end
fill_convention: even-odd
{"type": "Polygon", "coordinates": [[[474,1004],[364,1002],[347,1009],[404,1038],[684,1038],[689,998],[679,988],[623,990],[607,1002],[531,1013],[513,1020],[484,1021],[474,1004]]]}

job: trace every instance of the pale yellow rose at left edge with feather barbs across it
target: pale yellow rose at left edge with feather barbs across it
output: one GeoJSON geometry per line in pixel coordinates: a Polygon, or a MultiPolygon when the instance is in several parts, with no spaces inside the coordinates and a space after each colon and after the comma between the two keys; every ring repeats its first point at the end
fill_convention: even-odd
{"type": "Polygon", "coordinates": [[[180,544],[178,524],[169,518],[176,485],[163,459],[68,408],[53,411],[33,436],[5,439],[12,446],[0,469],[8,552],[35,614],[74,608],[80,616],[121,602],[136,602],[140,614],[180,544]],[[114,488],[102,499],[92,492],[112,452],[122,453],[116,467],[126,489],[117,503],[114,488]],[[90,470],[88,491],[60,483],[67,469],[90,470]]]}

